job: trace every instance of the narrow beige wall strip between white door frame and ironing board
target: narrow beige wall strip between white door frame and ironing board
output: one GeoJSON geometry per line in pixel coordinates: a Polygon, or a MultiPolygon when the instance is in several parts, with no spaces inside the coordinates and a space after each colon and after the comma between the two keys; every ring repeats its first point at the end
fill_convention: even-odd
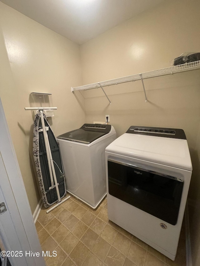
{"type": "Polygon", "coordinates": [[[34,212],[40,199],[36,178],[32,167],[31,157],[28,152],[26,134],[21,127],[22,119],[17,102],[20,101],[17,88],[14,84],[11,66],[8,61],[2,31],[0,31],[0,97],[4,112],[10,128],[12,141],[21,166],[22,177],[26,187],[31,210],[34,212]]]}

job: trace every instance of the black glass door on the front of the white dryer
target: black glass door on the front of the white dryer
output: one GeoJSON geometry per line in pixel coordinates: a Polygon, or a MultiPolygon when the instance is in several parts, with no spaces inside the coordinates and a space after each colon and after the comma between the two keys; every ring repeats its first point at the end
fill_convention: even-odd
{"type": "Polygon", "coordinates": [[[179,177],[108,159],[109,194],[176,225],[183,190],[179,177]]]}

